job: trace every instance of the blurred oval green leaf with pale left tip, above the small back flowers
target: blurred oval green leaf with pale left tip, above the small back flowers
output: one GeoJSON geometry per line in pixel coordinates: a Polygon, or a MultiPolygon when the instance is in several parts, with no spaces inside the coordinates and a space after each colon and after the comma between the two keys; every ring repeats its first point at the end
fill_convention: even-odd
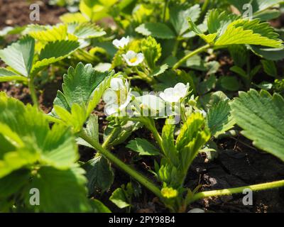
{"type": "Polygon", "coordinates": [[[135,31],[142,35],[153,36],[161,39],[175,38],[175,33],[164,23],[142,23],[135,31]]]}

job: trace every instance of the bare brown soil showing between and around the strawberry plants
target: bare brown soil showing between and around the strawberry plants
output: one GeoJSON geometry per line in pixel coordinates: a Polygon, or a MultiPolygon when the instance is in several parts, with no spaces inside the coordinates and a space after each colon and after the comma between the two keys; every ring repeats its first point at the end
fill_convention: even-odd
{"type": "MultiPolygon", "coordinates": [[[[32,23],[29,19],[28,1],[18,0],[0,0],[0,29],[5,26],[23,26],[32,23]]],[[[46,1],[39,1],[40,4],[40,24],[55,24],[59,22],[58,16],[65,12],[65,9],[51,7],[46,1]]],[[[226,65],[231,65],[231,60],[222,57],[220,60],[224,74],[226,74],[226,65]]],[[[1,65],[1,62],[0,62],[1,65]]],[[[228,71],[227,71],[228,72],[228,71]]],[[[52,82],[45,84],[42,91],[39,92],[40,107],[48,113],[52,109],[53,99],[56,92],[60,89],[62,77],[53,79],[52,82]]],[[[21,84],[1,83],[0,91],[6,92],[9,96],[23,101],[25,104],[31,102],[28,89],[21,84]]],[[[95,114],[99,116],[99,123],[103,132],[107,124],[103,114],[104,104],[99,104],[95,114]]],[[[141,129],[132,136],[145,138],[151,135],[145,129],[141,129]]],[[[258,184],[271,182],[273,180],[284,178],[284,163],[277,158],[263,153],[252,147],[251,142],[246,138],[226,138],[217,141],[219,144],[219,155],[212,161],[208,161],[205,155],[199,155],[187,176],[186,186],[194,189],[198,184],[202,184],[201,190],[224,189],[230,187],[240,187],[249,184],[258,184]]],[[[148,170],[153,168],[151,158],[139,159],[125,145],[119,145],[113,150],[121,160],[133,165],[137,170],[143,172],[149,178],[153,179],[148,170]]],[[[89,148],[80,147],[82,160],[89,160],[94,155],[94,151],[89,148]]],[[[128,175],[115,167],[115,179],[109,192],[98,199],[109,206],[111,211],[121,212],[114,204],[109,201],[111,192],[121,184],[130,181],[128,175]]],[[[154,179],[153,179],[154,180],[154,179]]],[[[133,201],[134,212],[165,212],[163,205],[150,192],[142,187],[141,196],[133,201]]],[[[283,212],[284,211],[284,189],[273,189],[263,192],[253,193],[253,206],[244,206],[242,198],[244,195],[222,196],[219,198],[203,199],[191,205],[190,208],[201,208],[213,212],[283,212]]]]}

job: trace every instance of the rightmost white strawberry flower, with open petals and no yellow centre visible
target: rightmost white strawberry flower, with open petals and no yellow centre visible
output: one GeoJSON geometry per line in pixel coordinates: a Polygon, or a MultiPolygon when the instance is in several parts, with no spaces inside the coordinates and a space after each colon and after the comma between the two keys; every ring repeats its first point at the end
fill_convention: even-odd
{"type": "Polygon", "coordinates": [[[175,87],[167,88],[164,92],[161,92],[160,97],[169,103],[177,103],[187,95],[188,89],[188,84],[178,83],[175,87]]]}

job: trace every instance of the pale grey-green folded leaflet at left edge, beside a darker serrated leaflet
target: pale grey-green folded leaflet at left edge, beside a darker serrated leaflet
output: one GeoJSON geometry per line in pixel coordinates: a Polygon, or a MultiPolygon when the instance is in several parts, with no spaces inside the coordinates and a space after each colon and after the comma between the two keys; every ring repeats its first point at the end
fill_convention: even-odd
{"type": "Polygon", "coordinates": [[[35,40],[29,36],[25,36],[4,50],[0,50],[0,58],[12,67],[13,70],[28,77],[33,65],[34,50],[35,40]]]}

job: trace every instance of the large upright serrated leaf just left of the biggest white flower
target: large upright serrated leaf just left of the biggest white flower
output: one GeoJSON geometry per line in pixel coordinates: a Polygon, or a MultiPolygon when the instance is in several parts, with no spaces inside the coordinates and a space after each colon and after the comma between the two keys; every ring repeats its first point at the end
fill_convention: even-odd
{"type": "Polygon", "coordinates": [[[80,131],[109,87],[112,75],[113,72],[97,72],[90,64],[70,67],[63,76],[63,92],[58,91],[54,100],[52,115],[80,131]]]}

